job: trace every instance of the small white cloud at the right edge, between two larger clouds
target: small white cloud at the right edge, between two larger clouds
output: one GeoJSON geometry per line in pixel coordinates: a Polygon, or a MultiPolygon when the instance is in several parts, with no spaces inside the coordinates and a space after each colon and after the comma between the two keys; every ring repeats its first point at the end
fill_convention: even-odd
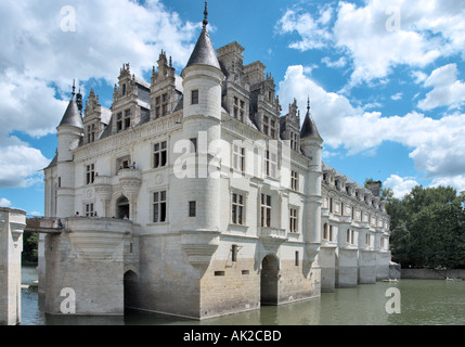
{"type": "Polygon", "coordinates": [[[425,87],[430,87],[432,90],[418,102],[418,108],[423,111],[439,106],[460,108],[465,104],[465,83],[457,80],[457,75],[456,64],[448,64],[435,69],[424,82],[425,87]]]}

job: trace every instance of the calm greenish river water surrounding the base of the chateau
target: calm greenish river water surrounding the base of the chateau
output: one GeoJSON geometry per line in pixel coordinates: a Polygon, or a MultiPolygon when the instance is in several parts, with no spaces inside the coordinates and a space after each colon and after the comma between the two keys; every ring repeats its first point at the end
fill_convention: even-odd
{"type": "MultiPolygon", "coordinates": [[[[23,267],[22,282],[34,280],[37,269],[23,267]]],[[[465,325],[465,281],[362,284],[306,301],[264,306],[202,322],[139,311],[124,318],[54,317],[44,314],[40,306],[37,292],[22,290],[22,325],[465,325]],[[397,296],[387,295],[389,288],[395,288],[397,296]],[[388,313],[386,305],[395,297],[399,298],[400,313],[388,313]]]]}

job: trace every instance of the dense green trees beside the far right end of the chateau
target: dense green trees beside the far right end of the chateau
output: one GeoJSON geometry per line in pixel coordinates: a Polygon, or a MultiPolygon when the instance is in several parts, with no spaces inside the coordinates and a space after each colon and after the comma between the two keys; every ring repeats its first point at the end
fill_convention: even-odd
{"type": "Polygon", "coordinates": [[[390,198],[392,260],[403,267],[464,268],[463,197],[451,187],[412,189],[402,200],[390,198]]]}

